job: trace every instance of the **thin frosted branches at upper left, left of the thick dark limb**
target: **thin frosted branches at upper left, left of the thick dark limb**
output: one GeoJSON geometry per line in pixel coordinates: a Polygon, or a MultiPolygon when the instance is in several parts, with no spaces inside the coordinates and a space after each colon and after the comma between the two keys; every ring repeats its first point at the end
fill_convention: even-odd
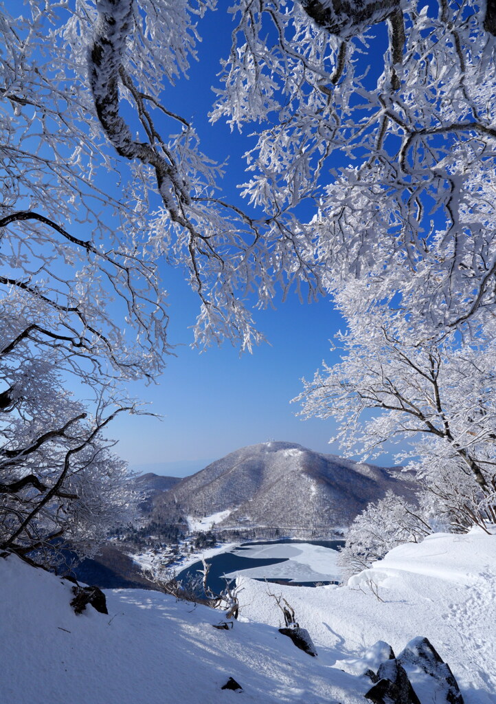
{"type": "Polygon", "coordinates": [[[61,53],[64,6],[32,1],[24,16],[0,19],[0,285],[25,310],[11,343],[65,348],[70,363],[99,360],[110,376],[153,375],[163,368],[164,296],[139,239],[134,187],[103,191],[97,179],[111,184],[117,164],[61,53]],[[126,323],[134,334],[122,334],[126,323]]]}

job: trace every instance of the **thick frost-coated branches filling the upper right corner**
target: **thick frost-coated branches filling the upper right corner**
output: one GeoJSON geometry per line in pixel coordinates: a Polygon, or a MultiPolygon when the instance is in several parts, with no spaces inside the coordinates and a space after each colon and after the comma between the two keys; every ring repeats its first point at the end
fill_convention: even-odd
{"type": "MultiPolygon", "coordinates": [[[[400,315],[429,336],[492,325],[492,10],[407,2],[388,14],[388,3],[376,4],[389,26],[376,78],[374,23],[386,15],[341,39],[322,19],[337,5],[234,6],[238,25],[212,116],[239,128],[253,114],[262,122],[244,194],[280,223],[314,202],[314,219],[288,230],[311,227],[314,259],[305,264],[327,291],[356,279],[351,310],[396,296],[400,315]]],[[[350,22],[357,5],[349,4],[350,22]]]]}

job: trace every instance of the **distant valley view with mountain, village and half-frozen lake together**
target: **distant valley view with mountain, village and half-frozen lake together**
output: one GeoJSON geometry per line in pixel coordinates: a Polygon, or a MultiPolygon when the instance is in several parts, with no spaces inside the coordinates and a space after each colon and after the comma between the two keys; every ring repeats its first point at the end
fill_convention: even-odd
{"type": "Polygon", "coordinates": [[[75,575],[103,589],[153,589],[151,567],[191,580],[201,560],[211,586],[243,571],[283,584],[336,584],[346,529],[386,491],[411,498],[401,467],[376,467],[270,441],[241,448],[184,479],[136,479],[139,523],[126,527],[75,575]],[[249,544],[247,544],[249,543],[249,544]]]}

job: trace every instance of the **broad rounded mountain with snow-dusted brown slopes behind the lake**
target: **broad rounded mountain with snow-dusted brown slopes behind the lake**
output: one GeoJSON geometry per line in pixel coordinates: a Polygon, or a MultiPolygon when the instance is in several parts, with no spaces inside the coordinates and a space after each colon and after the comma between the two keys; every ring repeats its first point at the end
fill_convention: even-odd
{"type": "Polygon", "coordinates": [[[224,512],[216,530],[250,524],[291,529],[347,526],[388,489],[412,495],[399,467],[375,467],[313,452],[291,442],[267,442],[232,452],[182,479],[155,506],[185,515],[224,512]]]}

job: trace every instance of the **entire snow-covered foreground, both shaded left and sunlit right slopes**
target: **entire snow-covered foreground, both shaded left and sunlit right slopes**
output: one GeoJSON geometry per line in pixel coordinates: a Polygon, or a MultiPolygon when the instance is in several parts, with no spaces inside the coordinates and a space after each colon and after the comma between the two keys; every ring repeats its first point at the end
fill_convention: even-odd
{"type": "Polygon", "coordinates": [[[398,653],[427,636],[466,704],[496,703],[496,536],[400,546],[350,587],[240,582],[242,621],[226,631],[212,628],[222,613],[150,591],[108,591],[108,616],[90,606],[77,616],[68,582],[0,559],[0,701],[363,704],[367,648],[381,639],[398,653]],[[267,591],[293,606],[317,658],[279,634],[267,591]],[[220,689],[229,677],[243,693],[220,689]]]}

